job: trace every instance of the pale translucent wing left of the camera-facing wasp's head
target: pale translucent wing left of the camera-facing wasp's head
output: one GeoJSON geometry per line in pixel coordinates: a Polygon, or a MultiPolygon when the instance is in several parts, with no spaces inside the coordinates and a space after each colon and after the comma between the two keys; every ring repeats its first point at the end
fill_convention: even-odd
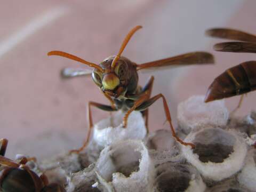
{"type": "Polygon", "coordinates": [[[84,68],[64,68],[60,71],[62,78],[78,77],[91,75],[92,70],[84,68]]]}

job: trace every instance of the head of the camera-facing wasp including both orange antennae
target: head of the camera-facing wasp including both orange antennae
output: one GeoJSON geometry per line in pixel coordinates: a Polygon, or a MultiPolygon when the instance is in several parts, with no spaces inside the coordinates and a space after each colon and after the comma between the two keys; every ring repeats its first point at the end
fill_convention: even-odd
{"type": "Polygon", "coordinates": [[[121,54],[132,35],[140,28],[142,27],[136,26],[130,30],[117,55],[108,57],[103,60],[100,65],[85,61],[75,55],[62,51],[50,51],[48,55],[59,55],[93,67],[92,79],[94,83],[100,87],[103,93],[108,94],[110,97],[118,98],[121,95],[125,95],[126,91],[133,93],[137,89],[137,65],[125,57],[122,57],[121,54]]]}

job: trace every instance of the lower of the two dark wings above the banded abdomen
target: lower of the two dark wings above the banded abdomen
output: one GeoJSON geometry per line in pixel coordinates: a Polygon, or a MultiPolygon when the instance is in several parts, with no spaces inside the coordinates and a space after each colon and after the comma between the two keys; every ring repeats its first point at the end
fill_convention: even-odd
{"type": "Polygon", "coordinates": [[[214,45],[215,51],[239,52],[239,53],[256,53],[256,43],[247,42],[225,42],[214,45]]]}

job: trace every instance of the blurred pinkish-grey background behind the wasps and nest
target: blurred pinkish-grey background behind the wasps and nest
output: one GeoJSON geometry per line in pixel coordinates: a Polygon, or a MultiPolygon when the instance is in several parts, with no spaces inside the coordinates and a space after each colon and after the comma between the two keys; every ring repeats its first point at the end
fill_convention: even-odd
{"type": "MultiPolygon", "coordinates": [[[[163,93],[173,123],[178,103],[191,95],[205,94],[213,79],[229,67],[256,59],[247,53],[215,52],[221,39],[206,37],[213,27],[229,27],[256,34],[256,1],[5,1],[0,6],[0,129],[9,139],[6,156],[17,153],[39,159],[77,148],[86,137],[88,101],[108,103],[90,77],[63,81],[63,67],[85,67],[60,57],[61,50],[99,63],[118,52],[123,38],[142,25],[123,55],[136,63],[190,51],[209,51],[215,65],[139,73],[140,85],[155,76],[153,95],[163,93]]],[[[230,110],[239,97],[226,99],[230,110]]],[[[249,114],[255,92],[245,97],[237,115],[249,114]]],[[[93,109],[96,123],[109,115],[93,109]]],[[[149,109],[149,129],[169,129],[162,100],[149,109]]]]}

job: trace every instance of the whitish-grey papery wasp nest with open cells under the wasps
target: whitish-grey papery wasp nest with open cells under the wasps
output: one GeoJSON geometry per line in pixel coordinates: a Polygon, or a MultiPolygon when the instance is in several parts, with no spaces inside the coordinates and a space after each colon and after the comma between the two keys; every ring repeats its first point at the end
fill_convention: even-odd
{"type": "Polygon", "coordinates": [[[146,135],[139,112],[124,129],[123,115],[119,111],[95,124],[83,153],[38,167],[68,192],[256,191],[254,112],[229,117],[223,101],[204,103],[202,96],[180,103],[177,134],[194,149],[181,146],[170,130],[146,135]]]}

